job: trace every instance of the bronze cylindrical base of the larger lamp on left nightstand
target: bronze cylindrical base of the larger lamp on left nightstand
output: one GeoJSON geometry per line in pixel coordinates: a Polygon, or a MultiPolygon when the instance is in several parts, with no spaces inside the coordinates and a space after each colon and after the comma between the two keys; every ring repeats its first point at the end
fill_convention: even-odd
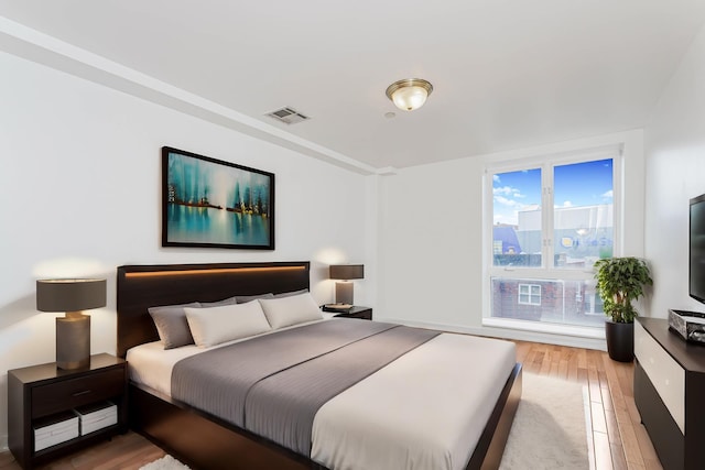
{"type": "Polygon", "coordinates": [[[82,369],[90,365],[90,317],[68,311],[56,318],[56,367],[82,369]]]}

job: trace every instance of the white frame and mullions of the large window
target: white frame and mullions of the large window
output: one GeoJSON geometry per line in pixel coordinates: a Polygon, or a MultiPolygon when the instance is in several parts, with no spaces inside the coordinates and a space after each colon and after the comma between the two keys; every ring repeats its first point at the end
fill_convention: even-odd
{"type": "MultiPolygon", "coordinates": [[[[527,329],[536,331],[545,330],[547,332],[562,332],[561,326],[542,324],[541,321],[522,321],[503,319],[491,316],[491,278],[503,277],[522,280],[522,284],[532,280],[565,280],[565,281],[585,281],[594,276],[590,267],[584,270],[561,269],[553,265],[554,263],[554,244],[553,244],[553,168],[560,165],[570,165],[596,160],[612,160],[612,255],[619,256],[623,252],[622,247],[622,145],[606,145],[596,149],[576,150],[550,155],[536,155],[533,157],[509,161],[490,162],[485,168],[484,182],[484,243],[482,243],[482,292],[485,293],[482,303],[482,325],[491,327],[508,327],[512,329],[522,329],[522,323],[527,329]],[[541,210],[542,210],[542,250],[540,267],[525,266],[495,266],[494,265],[494,194],[492,194],[492,176],[498,173],[510,173],[522,170],[541,168],[541,210]],[[551,210],[545,210],[551,208],[551,210]],[[543,325],[543,326],[542,326],[543,325]]],[[[595,330],[594,327],[581,327],[566,325],[565,330],[571,330],[575,335],[576,330],[595,330]]],[[[594,332],[586,332],[586,336],[593,336],[594,332]]]]}

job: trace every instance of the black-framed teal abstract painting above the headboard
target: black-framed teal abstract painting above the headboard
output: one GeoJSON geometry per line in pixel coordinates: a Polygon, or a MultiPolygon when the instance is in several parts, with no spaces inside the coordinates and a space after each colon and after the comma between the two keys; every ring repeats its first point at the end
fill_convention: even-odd
{"type": "Polygon", "coordinates": [[[274,249],[274,174],[162,147],[162,247],[274,249]]]}

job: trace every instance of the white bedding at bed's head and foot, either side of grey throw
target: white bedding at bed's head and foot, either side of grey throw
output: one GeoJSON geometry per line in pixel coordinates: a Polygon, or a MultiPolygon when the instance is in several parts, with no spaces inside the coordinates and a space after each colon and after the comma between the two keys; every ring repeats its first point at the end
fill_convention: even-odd
{"type": "MultiPolygon", "coordinates": [[[[130,379],[171,395],[174,364],[206,350],[138,346],[130,379]]],[[[514,363],[512,342],[442,334],[322,406],[311,457],[335,470],[464,469],[514,363]]]]}

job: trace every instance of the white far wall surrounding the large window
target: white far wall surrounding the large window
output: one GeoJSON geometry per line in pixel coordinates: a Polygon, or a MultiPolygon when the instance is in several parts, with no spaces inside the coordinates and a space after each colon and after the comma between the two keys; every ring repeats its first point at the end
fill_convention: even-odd
{"type": "Polygon", "coordinates": [[[640,130],[416,166],[381,184],[378,318],[459,331],[603,347],[556,336],[484,328],[482,179],[486,162],[623,145],[626,255],[643,255],[640,130]]]}

